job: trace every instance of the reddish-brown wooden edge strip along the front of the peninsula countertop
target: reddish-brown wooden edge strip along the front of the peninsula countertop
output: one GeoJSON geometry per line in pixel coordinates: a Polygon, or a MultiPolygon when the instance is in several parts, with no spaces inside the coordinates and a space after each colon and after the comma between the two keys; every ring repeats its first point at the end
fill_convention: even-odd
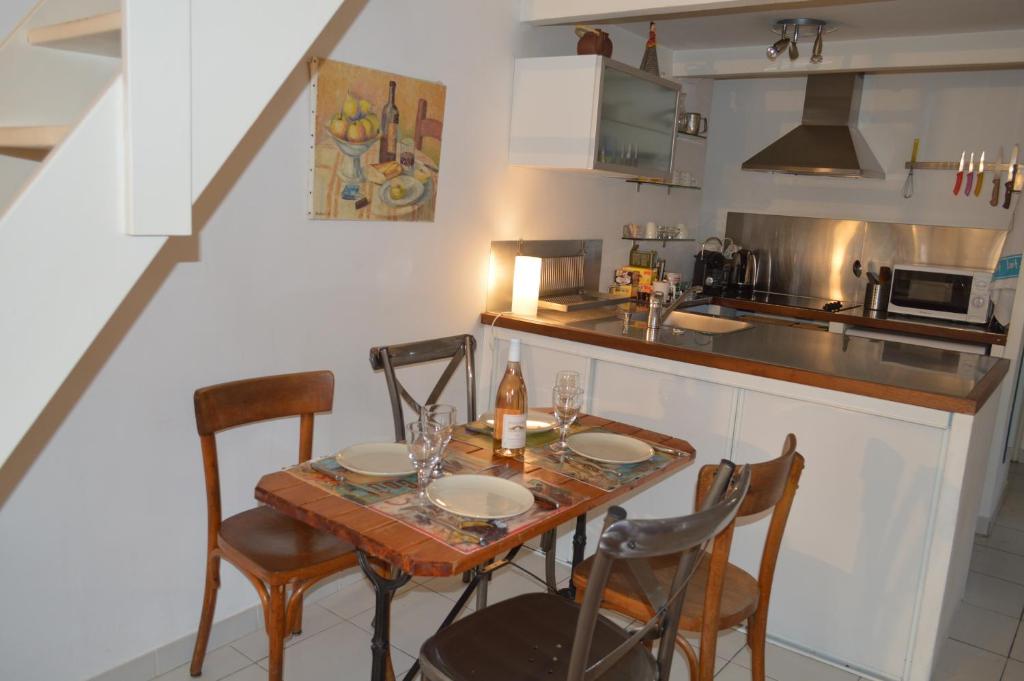
{"type": "Polygon", "coordinates": [[[600,347],[607,347],[613,350],[625,350],[651,357],[662,357],[664,359],[675,359],[701,367],[713,369],[723,369],[725,371],[771,378],[779,381],[788,381],[802,385],[810,385],[826,390],[838,390],[849,392],[865,397],[876,397],[903,405],[913,405],[926,409],[939,410],[941,412],[953,412],[956,414],[977,414],[985,400],[991,396],[992,392],[999,384],[999,380],[1006,375],[1009,363],[1001,360],[988,372],[988,374],[975,386],[974,390],[967,397],[951,397],[940,395],[934,392],[924,392],[904,388],[900,386],[882,385],[870,381],[845,378],[841,376],[827,376],[805,369],[793,369],[790,367],[778,367],[753,359],[741,359],[738,357],[727,357],[710,352],[699,352],[686,348],[673,347],[647,343],[636,338],[617,338],[606,336],[584,329],[574,329],[560,324],[553,324],[543,320],[524,320],[516,316],[498,316],[493,312],[482,312],[480,314],[481,324],[494,324],[494,326],[515,331],[525,331],[536,333],[551,338],[588,343],[600,347]],[[497,320],[497,321],[496,321],[497,320]]]}

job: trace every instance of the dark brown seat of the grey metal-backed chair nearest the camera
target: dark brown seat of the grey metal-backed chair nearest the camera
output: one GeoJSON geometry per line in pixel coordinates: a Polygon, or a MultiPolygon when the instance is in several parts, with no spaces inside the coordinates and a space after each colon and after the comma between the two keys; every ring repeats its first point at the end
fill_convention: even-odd
{"type": "MultiPolygon", "coordinates": [[[[558,681],[568,672],[580,606],[561,596],[526,594],[456,622],[427,639],[420,664],[431,681],[558,681]]],[[[629,638],[598,618],[591,648],[597,661],[629,638]]],[[[653,679],[654,658],[637,645],[601,681],[653,679]]]]}

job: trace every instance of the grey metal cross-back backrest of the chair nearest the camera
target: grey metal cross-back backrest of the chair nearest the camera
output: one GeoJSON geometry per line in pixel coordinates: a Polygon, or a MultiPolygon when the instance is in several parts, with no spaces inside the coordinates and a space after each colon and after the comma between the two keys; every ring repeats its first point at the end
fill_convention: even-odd
{"type": "Polygon", "coordinates": [[[734,475],[735,467],[723,461],[701,510],[686,516],[658,519],[628,519],[617,506],[608,509],[605,528],[601,533],[583,606],[577,622],[575,638],[569,657],[566,681],[592,681],[610,670],[615,663],[638,645],[657,640],[657,678],[667,681],[672,669],[674,640],[686,595],[686,584],[696,570],[705,545],[729,526],[746,495],[751,474],[743,467],[734,475]],[[675,577],[666,590],[644,559],[676,556],[675,577]],[[590,648],[597,627],[598,609],[604,589],[617,560],[626,560],[645,596],[654,609],[654,616],[629,638],[590,663],[590,648]]]}

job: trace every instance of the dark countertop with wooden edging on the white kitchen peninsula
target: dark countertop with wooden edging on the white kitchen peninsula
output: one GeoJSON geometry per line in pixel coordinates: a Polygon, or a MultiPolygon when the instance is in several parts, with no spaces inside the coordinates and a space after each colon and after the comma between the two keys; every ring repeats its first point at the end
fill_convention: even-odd
{"type": "Polygon", "coordinates": [[[976,414],[1010,366],[1007,359],[986,355],[756,322],[750,329],[716,336],[663,328],[656,340],[648,341],[642,322],[624,328],[606,308],[541,311],[536,318],[484,312],[480,322],[959,414],[976,414]]]}

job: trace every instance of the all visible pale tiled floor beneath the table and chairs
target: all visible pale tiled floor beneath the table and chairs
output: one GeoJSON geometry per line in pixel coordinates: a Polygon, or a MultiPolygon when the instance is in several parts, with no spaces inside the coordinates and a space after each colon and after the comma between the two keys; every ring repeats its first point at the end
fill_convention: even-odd
{"type": "MultiPolygon", "coordinates": [[[[543,574],[543,557],[523,551],[516,562],[543,574]]],[[[992,534],[979,538],[972,559],[967,596],[950,638],[936,666],[934,681],[1024,681],[1024,471],[1015,467],[1004,508],[992,534]]],[[[559,566],[559,579],[567,569],[559,566]]],[[[459,578],[414,580],[394,600],[391,626],[392,661],[400,676],[413,664],[420,644],[434,630],[462,591],[459,578]]],[[[514,568],[500,570],[490,584],[490,600],[541,590],[541,585],[514,568]]],[[[471,609],[471,608],[468,608],[471,609]]],[[[289,639],[285,652],[288,681],[366,679],[370,676],[370,632],[373,593],[365,582],[349,585],[309,603],[301,636],[289,639]],[[342,674],[342,670],[344,673],[342,674]]],[[[719,638],[716,679],[750,681],[750,649],[741,632],[719,638]]],[[[766,668],[770,681],[859,681],[856,674],[769,644],[766,668]]],[[[188,679],[187,666],[158,681],[188,679]]],[[[262,631],[207,654],[207,681],[264,681],[266,637],[262,631]]],[[[687,679],[686,665],[676,655],[672,681],[687,679]]]]}

